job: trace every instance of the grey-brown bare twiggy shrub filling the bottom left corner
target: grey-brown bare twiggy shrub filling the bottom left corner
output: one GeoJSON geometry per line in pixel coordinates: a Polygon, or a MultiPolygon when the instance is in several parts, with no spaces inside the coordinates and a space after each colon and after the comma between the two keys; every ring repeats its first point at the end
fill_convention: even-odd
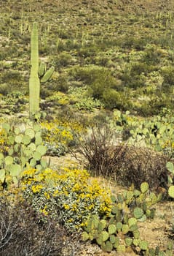
{"type": "Polygon", "coordinates": [[[0,199],[0,255],[64,255],[68,244],[72,251],[66,230],[58,223],[47,218],[39,222],[39,214],[30,204],[20,198],[9,200],[14,192],[1,193],[0,199]]]}

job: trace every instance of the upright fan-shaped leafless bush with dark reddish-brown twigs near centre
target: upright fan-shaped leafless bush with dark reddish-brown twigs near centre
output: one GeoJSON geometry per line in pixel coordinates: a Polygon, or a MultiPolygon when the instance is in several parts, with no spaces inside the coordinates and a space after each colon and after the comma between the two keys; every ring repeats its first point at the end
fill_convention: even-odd
{"type": "Polygon", "coordinates": [[[86,159],[87,167],[95,176],[108,177],[115,173],[117,155],[122,148],[115,148],[115,143],[116,135],[108,126],[93,127],[82,136],[77,151],[86,159]]]}

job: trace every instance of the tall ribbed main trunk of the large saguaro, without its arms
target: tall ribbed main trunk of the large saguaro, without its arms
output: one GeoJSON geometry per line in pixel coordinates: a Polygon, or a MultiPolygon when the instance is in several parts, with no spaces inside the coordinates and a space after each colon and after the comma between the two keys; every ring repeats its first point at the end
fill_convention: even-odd
{"type": "Polygon", "coordinates": [[[39,69],[39,42],[37,23],[33,23],[31,32],[31,75],[29,80],[29,115],[33,116],[39,112],[40,80],[39,69]]]}

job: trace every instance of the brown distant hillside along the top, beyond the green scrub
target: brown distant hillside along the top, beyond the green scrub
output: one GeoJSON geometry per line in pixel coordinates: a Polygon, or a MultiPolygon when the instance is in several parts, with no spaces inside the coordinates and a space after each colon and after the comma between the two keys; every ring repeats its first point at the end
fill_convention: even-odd
{"type": "Polygon", "coordinates": [[[0,6],[3,7],[4,11],[19,11],[23,4],[25,10],[28,9],[33,11],[35,8],[36,11],[43,10],[44,12],[51,12],[58,8],[58,10],[76,10],[89,9],[94,10],[99,8],[105,12],[157,12],[157,11],[173,11],[174,10],[174,1],[173,0],[44,0],[44,1],[1,1],[0,6]]]}

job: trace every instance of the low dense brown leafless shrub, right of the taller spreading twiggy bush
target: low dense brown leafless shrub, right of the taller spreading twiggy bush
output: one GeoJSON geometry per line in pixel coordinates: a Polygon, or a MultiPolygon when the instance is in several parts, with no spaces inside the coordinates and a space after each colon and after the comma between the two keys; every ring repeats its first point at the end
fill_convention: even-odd
{"type": "Polygon", "coordinates": [[[149,148],[126,146],[117,157],[116,181],[120,184],[140,188],[146,181],[151,189],[167,188],[168,158],[149,148]]]}

